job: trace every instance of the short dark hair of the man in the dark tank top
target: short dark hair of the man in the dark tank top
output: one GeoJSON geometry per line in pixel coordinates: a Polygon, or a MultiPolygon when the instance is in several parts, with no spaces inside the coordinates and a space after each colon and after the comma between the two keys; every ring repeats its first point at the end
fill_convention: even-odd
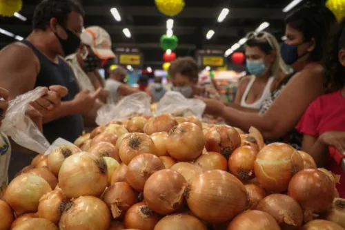
{"type": "Polygon", "coordinates": [[[32,28],[34,30],[46,30],[49,21],[56,18],[61,26],[66,26],[67,18],[70,12],[78,12],[84,16],[83,8],[75,0],[43,0],[34,10],[32,18],[32,28]]]}

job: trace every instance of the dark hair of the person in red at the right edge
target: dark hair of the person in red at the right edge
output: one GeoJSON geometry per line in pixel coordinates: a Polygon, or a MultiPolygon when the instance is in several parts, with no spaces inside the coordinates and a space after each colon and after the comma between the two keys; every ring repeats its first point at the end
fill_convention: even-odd
{"type": "Polygon", "coordinates": [[[345,48],[345,19],[336,23],[328,36],[324,55],[324,86],[327,91],[339,90],[345,86],[345,67],[339,62],[339,50],[345,48]]]}

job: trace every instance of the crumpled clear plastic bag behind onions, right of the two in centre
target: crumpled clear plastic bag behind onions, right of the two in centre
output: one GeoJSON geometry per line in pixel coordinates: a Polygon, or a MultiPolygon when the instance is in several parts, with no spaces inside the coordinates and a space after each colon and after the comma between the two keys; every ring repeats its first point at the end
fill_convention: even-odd
{"type": "Polygon", "coordinates": [[[201,118],[206,104],[199,99],[188,99],[179,92],[169,91],[157,104],[157,115],[171,113],[174,116],[195,116],[201,118]]]}

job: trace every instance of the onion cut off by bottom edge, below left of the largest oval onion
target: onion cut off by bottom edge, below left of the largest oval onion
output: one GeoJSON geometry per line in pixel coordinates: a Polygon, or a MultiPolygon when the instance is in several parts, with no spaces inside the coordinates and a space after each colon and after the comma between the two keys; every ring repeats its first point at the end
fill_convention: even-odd
{"type": "Polygon", "coordinates": [[[198,218],[187,213],[178,213],[174,215],[167,215],[159,220],[155,230],[207,230],[198,218]]]}

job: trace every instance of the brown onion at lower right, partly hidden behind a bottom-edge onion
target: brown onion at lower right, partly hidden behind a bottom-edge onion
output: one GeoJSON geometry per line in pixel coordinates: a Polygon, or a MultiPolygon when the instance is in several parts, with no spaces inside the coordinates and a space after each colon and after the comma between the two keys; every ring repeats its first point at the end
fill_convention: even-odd
{"type": "Polygon", "coordinates": [[[282,229],[298,230],[302,226],[302,209],[299,207],[299,204],[288,195],[268,195],[259,202],[256,209],[272,215],[282,229]]]}

